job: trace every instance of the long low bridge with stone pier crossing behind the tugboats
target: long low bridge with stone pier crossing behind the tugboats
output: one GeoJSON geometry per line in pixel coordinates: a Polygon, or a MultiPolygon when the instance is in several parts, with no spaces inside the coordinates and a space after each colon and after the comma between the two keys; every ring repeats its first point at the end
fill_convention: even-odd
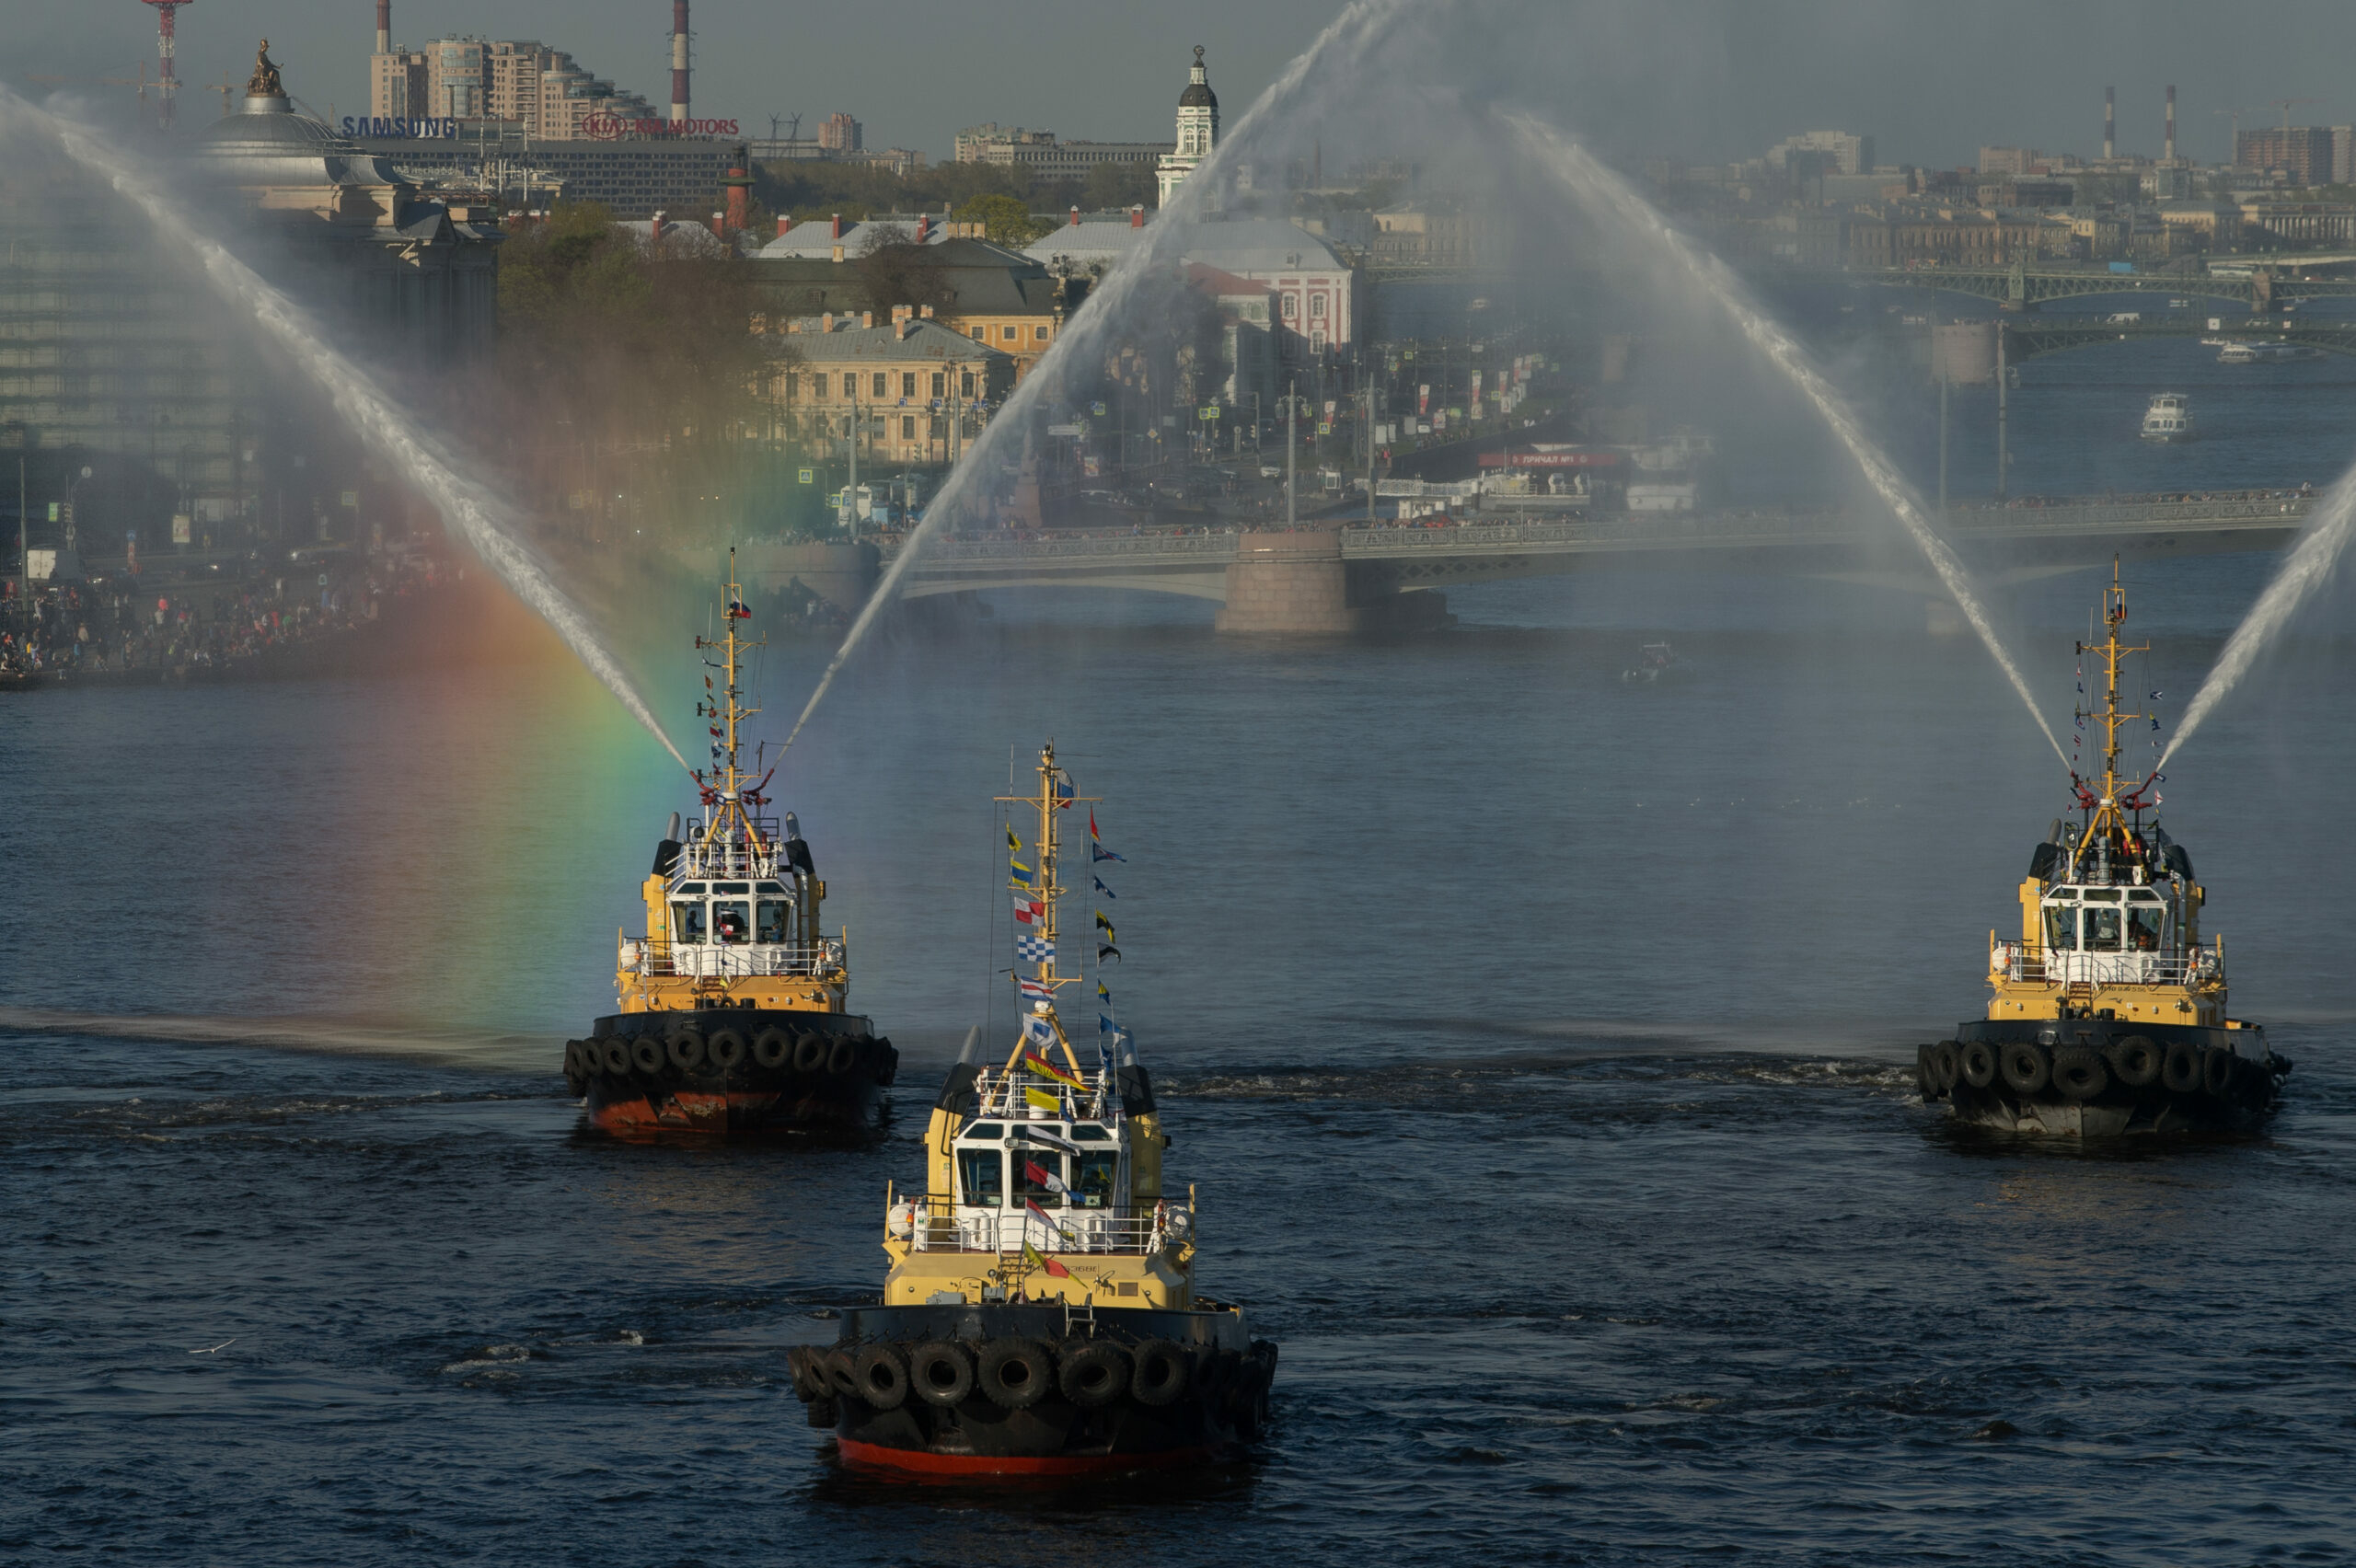
{"type": "MultiPolygon", "coordinates": [[[[2026,582],[2099,565],[2113,553],[2283,549],[2311,504],[2285,490],[1960,506],[1941,532],[1988,582],[2026,582]]],[[[886,558],[898,549],[888,544],[886,558]]],[[[1440,589],[1593,567],[1831,577],[1939,596],[1930,567],[1892,518],[1847,511],[942,539],[909,565],[902,593],[1136,589],[1218,600],[1225,631],[1348,631],[1435,622],[1444,614],[1440,589]]]]}

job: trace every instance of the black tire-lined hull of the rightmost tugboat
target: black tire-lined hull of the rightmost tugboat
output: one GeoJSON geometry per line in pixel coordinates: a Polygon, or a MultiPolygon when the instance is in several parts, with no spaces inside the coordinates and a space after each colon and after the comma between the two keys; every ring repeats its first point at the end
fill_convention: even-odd
{"type": "Polygon", "coordinates": [[[2236,1132],[2281,1097],[2264,1029],[2120,1019],[1972,1019],[1915,1052],[1922,1102],[2005,1132],[2236,1132]]]}

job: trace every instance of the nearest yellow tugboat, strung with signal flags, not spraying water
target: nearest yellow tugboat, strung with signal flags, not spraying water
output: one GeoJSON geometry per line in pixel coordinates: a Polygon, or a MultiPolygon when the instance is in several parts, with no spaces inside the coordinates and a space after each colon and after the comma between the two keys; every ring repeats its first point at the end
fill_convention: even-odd
{"type": "MultiPolygon", "coordinates": [[[[1213,1460],[1268,1420],[1277,1347],[1194,1288],[1194,1191],[1164,1184],[1169,1137],[1129,1034],[1100,1015],[1084,1062],[1065,1029],[1058,998],[1084,975],[1058,965],[1055,864],[1079,798],[1053,746],[1018,800],[1039,812],[1037,869],[1008,826],[1018,1038],[1004,1062],[968,1041],[949,1069],[924,1196],[886,1191],[881,1304],[846,1309],[834,1347],[796,1347],[794,1391],[843,1464],[898,1476],[1213,1460]]],[[[1088,855],[1119,859],[1093,810],[1088,855]]]]}

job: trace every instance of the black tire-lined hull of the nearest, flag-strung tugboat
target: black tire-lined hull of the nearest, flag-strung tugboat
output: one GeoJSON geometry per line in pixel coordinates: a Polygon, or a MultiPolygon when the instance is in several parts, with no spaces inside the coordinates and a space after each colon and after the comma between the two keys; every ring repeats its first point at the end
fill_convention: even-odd
{"type": "Polygon", "coordinates": [[[855,1469],[1058,1479],[1232,1457],[1275,1370],[1235,1309],[858,1307],[796,1347],[794,1394],[855,1469]]]}

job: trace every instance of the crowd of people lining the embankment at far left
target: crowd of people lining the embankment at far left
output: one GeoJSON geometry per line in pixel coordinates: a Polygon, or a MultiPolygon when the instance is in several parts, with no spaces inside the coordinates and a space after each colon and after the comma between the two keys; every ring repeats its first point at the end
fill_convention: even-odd
{"type": "Polygon", "coordinates": [[[35,584],[31,600],[0,603],[0,678],[226,671],[375,622],[386,598],[431,591],[450,570],[434,558],[370,558],[243,584],[35,584]]]}

